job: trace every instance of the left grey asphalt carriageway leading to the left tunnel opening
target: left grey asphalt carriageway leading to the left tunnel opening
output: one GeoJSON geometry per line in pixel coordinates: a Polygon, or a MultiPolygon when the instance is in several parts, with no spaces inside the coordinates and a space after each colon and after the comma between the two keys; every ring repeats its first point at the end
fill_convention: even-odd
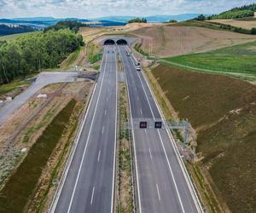
{"type": "Polygon", "coordinates": [[[113,46],[104,48],[101,75],[52,212],[113,210],[117,120],[117,68],[113,51],[113,46]]]}

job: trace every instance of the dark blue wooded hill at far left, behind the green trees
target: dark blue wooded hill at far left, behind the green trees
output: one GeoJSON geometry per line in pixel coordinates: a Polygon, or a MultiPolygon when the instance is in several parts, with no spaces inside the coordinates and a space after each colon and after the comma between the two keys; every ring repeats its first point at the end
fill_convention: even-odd
{"type": "Polygon", "coordinates": [[[7,36],[23,32],[34,32],[31,26],[16,26],[12,24],[0,24],[0,36],[7,36]]]}

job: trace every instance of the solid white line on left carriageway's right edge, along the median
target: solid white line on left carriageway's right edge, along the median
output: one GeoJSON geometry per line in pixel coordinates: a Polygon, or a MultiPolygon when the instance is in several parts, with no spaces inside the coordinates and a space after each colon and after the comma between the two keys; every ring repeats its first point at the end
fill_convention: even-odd
{"type": "MultiPolygon", "coordinates": [[[[116,57],[115,57],[116,58],[116,57]]],[[[115,129],[114,129],[114,153],[113,153],[113,182],[112,182],[112,203],[111,203],[111,212],[113,211],[114,205],[114,192],[115,192],[115,165],[116,165],[116,146],[117,146],[117,111],[118,111],[118,68],[117,68],[117,61],[115,65],[115,129]]]]}

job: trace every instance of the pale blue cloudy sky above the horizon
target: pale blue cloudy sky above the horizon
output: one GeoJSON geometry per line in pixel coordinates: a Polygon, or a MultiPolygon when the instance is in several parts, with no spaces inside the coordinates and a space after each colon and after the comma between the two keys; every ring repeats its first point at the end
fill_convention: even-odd
{"type": "Polygon", "coordinates": [[[217,14],[256,0],[0,0],[0,18],[217,14]]]}

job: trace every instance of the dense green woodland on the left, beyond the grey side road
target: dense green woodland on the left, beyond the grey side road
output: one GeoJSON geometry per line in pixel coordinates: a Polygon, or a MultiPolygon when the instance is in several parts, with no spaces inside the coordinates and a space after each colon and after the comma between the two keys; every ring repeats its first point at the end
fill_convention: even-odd
{"type": "Polygon", "coordinates": [[[69,29],[50,29],[0,42],[0,84],[43,68],[55,68],[83,44],[83,37],[69,29]]]}

